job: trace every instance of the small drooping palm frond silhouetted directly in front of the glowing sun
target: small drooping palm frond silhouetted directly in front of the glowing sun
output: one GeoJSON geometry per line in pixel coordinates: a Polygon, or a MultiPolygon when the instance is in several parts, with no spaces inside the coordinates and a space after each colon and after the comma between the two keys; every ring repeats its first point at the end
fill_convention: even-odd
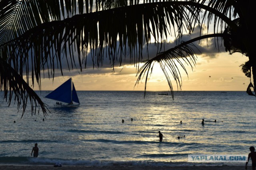
{"type": "Polygon", "coordinates": [[[148,76],[152,74],[154,63],[157,62],[158,64],[160,64],[160,67],[164,72],[164,75],[166,77],[166,80],[168,82],[168,85],[172,94],[172,98],[174,98],[171,77],[174,78],[177,88],[181,89],[182,76],[180,74],[179,69],[182,68],[188,75],[188,72],[186,70],[186,65],[190,66],[193,70],[193,66],[195,66],[196,64],[197,57],[196,57],[195,50],[199,51],[199,49],[193,44],[193,42],[199,41],[200,39],[210,38],[210,37],[226,37],[226,36],[229,36],[229,35],[225,35],[222,33],[202,35],[200,37],[196,37],[189,41],[181,42],[176,47],[159,53],[156,57],[146,61],[146,63],[138,70],[138,73],[136,74],[136,76],[138,76],[136,84],[138,84],[144,78],[144,76],[146,76],[145,88],[144,88],[144,96],[145,96],[148,76]],[[172,76],[170,76],[170,74],[172,76]]]}

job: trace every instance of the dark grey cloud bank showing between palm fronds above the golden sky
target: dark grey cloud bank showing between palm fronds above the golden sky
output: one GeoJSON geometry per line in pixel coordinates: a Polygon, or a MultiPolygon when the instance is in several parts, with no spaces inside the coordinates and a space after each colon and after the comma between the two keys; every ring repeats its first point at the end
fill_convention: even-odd
{"type": "MultiPolygon", "coordinates": [[[[192,35],[183,35],[182,39],[180,39],[180,41],[188,41],[190,39],[193,39],[195,37],[198,37],[200,34],[200,29],[199,28],[196,28],[194,29],[194,32],[192,33],[192,35]]],[[[119,44],[117,44],[119,45],[119,44]]],[[[174,42],[166,42],[164,41],[163,44],[162,44],[162,49],[161,51],[164,51],[164,50],[168,50],[170,48],[173,48],[175,47],[177,44],[176,44],[176,41],[174,42]]],[[[208,39],[207,43],[206,43],[206,40],[201,40],[201,41],[197,41],[194,43],[194,45],[196,45],[196,47],[198,48],[195,49],[195,52],[197,55],[202,55],[202,57],[208,57],[208,58],[215,58],[216,55],[218,55],[220,52],[223,52],[224,51],[224,48],[221,47],[221,42],[220,42],[220,39],[208,39]],[[217,44],[217,41],[219,44],[217,44]],[[216,45],[220,46],[220,47],[216,47],[216,45]]],[[[138,46],[137,46],[138,47],[138,46]]],[[[106,50],[105,50],[106,52],[106,50]]],[[[140,61],[146,61],[147,59],[152,59],[153,57],[156,57],[157,53],[160,52],[160,45],[157,46],[155,43],[149,43],[148,46],[145,44],[144,47],[143,47],[143,50],[142,50],[142,59],[140,59],[140,61]]],[[[138,51],[137,51],[138,53],[138,51]]],[[[68,52],[69,54],[69,52],[68,52]]],[[[68,55],[69,57],[69,55],[68,55]]],[[[68,59],[68,62],[67,62],[67,59],[65,56],[62,56],[62,70],[64,71],[64,73],[66,72],[69,72],[69,69],[70,69],[70,72],[72,72],[72,74],[80,74],[80,68],[79,68],[79,62],[78,62],[78,54],[75,52],[74,53],[74,59],[75,61],[72,61],[73,62],[73,68],[72,68],[72,65],[71,65],[71,62],[70,62],[70,58],[68,59]]],[[[82,59],[81,59],[82,60],[82,59]]],[[[85,61],[83,61],[83,64],[82,64],[82,74],[104,74],[104,73],[110,73],[110,72],[115,72],[115,74],[120,74],[119,73],[119,70],[120,68],[118,68],[120,66],[120,61],[119,61],[119,55],[114,63],[114,68],[118,68],[118,69],[115,69],[113,70],[113,61],[110,61],[108,56],[104,56],[103,60],[99,63],[99,67],[98,65],[95,65],[95,63],[93,63],[93,57],[91,55],[91,53],[89,52],[87,54],[87,57],[86,57],[86,65],[85,65],[85,61]]],[[[138,56],[132,56],[130,57],[129,54],[126,54],[126,57],[122,57],[122,65],[121,65],[121,68],[124,66],[124,65],[133,65],[134,68],[138,68],[139,65],[142,65],[142,63],[138,63],[136,65],[136,63],[134,63],[134,60],[135,61],[138,61],[138,56]]],[[[56,60],[55,60],[55,68],[57,64],[56,64],[56,60]]],[[[58,74],[61,74],[60,73],[60,70],[56,70],[56,73],[58,74]]],[[[48,73],[46,72],[46,75],[48,73]]],[[[122,70],[122,74],[134,74],[134,69],[126,69],[125,72],[124,70],[122,70]]]]}

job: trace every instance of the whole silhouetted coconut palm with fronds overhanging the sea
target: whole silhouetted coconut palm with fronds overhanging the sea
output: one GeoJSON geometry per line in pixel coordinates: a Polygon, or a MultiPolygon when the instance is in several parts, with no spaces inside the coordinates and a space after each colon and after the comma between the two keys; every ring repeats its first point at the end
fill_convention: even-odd
{"type": "MultiPolygon", "coordinates": [[[[134,63],[138,81],[148,76],[159,63],[173,95],[171,78],[181,87],[179,69],[186,72],[196,64],[201,39],[221,40],[230,54],[239,52],[249,61],[242,65],[246,76],[256,76],[253,57],[253,15],[250,0],[0,0],[0,90],[9,104],[17,101],[26,109],[30,100],[32,113],[45,104],[30,86],[41,76],[54,80],[55,70],[63,75],[62,65],[70,70],[86,68],[91,59],[95,67],[109,60],[113,67],[134,63]],[[182,41],[184,33],[192,34],[196,26],[210,24],[214,32],[182,41]],[[177,45],[165,50],[164,39],[176,38],[177,45]],[[142,56],[150,40],[158,48],[156,57],[142,56]],[[174,62],[176,61],[176,62],[174,62]],[[141,63],[146,62],[144,65],[141,63]],[[142,66],[141,66],[142,65],[142,66]],[[252,73],[251,73],[252,68],[252,73]],[[31,82],[29,81],[31,78],[31,82]]],[[[256,78],[254,78],[254,86],[256,78]]],[[[38,110],[39,111],[39,110],[38,110]]],[[[22,114],[23,115],[23,114],[22,114]]]]}

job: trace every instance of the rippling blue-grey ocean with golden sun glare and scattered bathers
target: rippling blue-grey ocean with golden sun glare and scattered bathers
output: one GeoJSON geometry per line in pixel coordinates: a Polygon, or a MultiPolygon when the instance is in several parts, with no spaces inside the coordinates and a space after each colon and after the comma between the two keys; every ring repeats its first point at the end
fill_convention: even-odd
{"type": "Polygon", "coordinates": [[[248,155],[256,146],[256,98],[246,92],[181,91],[173,100],[150,91],[145,98],[144,91],[78,91],[77,107],[37,93],[51,111],[46,117],[27,106],[21,118],[15,104],[1,103],[0,164],[180,166],[194,164],[188,154],[248,155]],[[30,156],[35,143],[38,158],[30,156]]]}

